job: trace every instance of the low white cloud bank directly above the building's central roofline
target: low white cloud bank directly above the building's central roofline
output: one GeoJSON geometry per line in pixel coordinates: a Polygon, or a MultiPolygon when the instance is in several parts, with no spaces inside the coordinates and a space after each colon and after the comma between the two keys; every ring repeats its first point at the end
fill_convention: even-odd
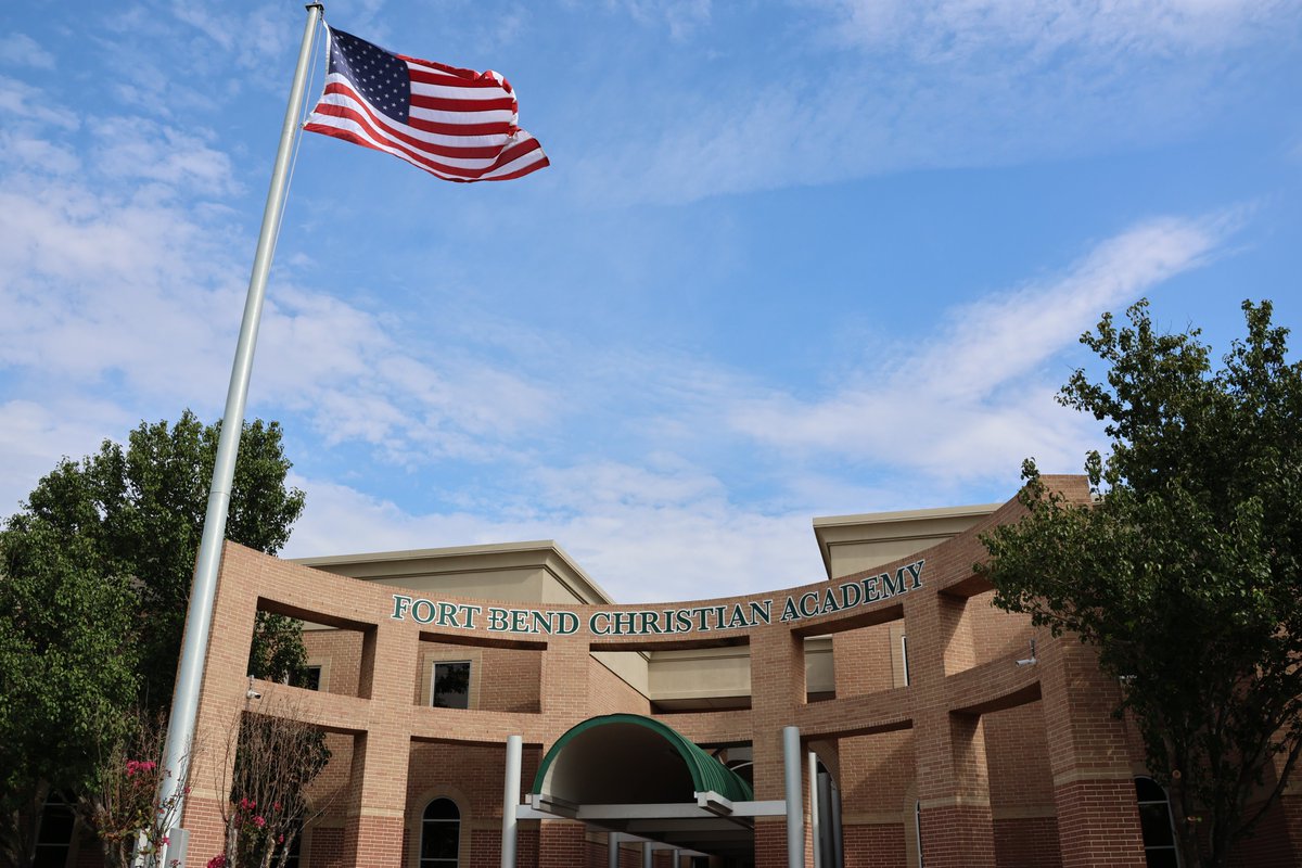
{"type": "Polygon", "coordinates": [[[346,485],[294,484],[309,497],[285,550],[290,557],[337,554],[341,545],[376,552],[553,539],[621,603],[707,599],[824,578],[809,514],[746,509],[729,502],[717,480],[681,466],[546,470],[521,491],[522,501],[538,505],[522,514],[413,515],[346,485]]]}

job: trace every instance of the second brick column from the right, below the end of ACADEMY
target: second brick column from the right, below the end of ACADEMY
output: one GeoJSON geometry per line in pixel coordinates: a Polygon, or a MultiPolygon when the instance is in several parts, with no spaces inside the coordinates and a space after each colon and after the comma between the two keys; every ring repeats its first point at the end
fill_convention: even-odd
{"type": "Polygon", "coordinates": [[[910,701],[922,803],[922,854],[927,868],[995,868],[986,735],[980,717],[950,713],[947,653],[967,662],[967,643],[953,642],[963,600],[945,593],[909,595],[910,701]]]}

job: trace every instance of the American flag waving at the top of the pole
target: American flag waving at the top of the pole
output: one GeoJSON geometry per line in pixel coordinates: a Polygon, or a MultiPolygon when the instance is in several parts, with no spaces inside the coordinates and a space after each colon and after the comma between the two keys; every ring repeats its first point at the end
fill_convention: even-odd
{"type": "Polygon", "coordinates": [[[384,151],[445,181],[506,181],[548,165],[516,126],[499,73],[393,55],[333,27],[326,90],[305,130],[384,151]]]}

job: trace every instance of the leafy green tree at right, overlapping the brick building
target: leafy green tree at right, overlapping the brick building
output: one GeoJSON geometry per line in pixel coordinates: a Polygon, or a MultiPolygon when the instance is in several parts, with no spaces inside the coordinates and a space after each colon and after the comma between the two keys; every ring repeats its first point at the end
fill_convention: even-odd
{"type": "Polygon", "coordinates": [[[1155,333],[1147,302],[1086,333],[1107,379],[1078,370],[1060,401],[1107,423],[1109,454],[1086,459],[1095,502],[1066,502],[1027,461],[1029,514],[986,537],[978,567],[995,605],[1096,645],[1186,868],[1225,864],[1302,752],[1302,363],[1269,302],[1243,312],[1216,371],[1197,329],[1155,333]]]}

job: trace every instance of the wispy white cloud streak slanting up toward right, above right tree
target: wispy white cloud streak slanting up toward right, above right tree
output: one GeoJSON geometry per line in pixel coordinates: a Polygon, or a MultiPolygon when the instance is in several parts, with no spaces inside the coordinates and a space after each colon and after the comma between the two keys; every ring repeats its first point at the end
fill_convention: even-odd
{"type": "Polygon", "coordinates": [[[898,362],[870,360],[857,381],[827,397],[742,398],[732,424],[784,450],[935,478],[997,476],[1026,455],[1074,467],[1091,423],[1055,405],[1065,371],[1048,373],[1044,366],[1092,327],[1099,311],[1202,264],[1234,225],[1234,216],[1220,216],[1135,226],[1056,280],[949,311],[934,337],[894,347],[898,362]]]}

